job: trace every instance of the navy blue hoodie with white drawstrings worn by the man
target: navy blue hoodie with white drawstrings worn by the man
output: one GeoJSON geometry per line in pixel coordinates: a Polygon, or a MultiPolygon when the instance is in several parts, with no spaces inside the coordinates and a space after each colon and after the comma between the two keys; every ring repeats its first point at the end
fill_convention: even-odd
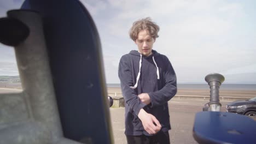
{"type": "Polygon", "coordinates": [[[152,50],[152,55],[148,57],[133,50],[121,57],[118,76],[125,100],[125,134],[150,135],[138,118],[141,109],[158,119],[162,131],[170,130],[167,102],[176,94],[177,84],[168,58],[155,50],[152,50]],[[139,100],[138,94],[141,93],[149,94],[149,105],[139,100]]]}

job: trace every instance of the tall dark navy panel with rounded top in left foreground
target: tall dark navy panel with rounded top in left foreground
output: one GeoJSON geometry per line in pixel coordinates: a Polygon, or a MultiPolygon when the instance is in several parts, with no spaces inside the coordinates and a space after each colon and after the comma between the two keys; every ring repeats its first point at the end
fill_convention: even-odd
{"type": "Polygon", "coordinates": [[[100,38],[88,11],[76,0],[26,0],[21,9],[43,17],[64,136],[111,143],[100,38]]]}

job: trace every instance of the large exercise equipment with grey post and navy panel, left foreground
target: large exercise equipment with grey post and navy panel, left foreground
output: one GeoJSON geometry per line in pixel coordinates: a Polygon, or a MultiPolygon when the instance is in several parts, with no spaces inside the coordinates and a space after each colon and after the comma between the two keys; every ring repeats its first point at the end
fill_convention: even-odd
{"type": "Polygon", "coordinates": [[[113,143],[100,38],[84,5],[26,0],[0,26],[23,89],[0,95],[0,143],[113,143]]]}

